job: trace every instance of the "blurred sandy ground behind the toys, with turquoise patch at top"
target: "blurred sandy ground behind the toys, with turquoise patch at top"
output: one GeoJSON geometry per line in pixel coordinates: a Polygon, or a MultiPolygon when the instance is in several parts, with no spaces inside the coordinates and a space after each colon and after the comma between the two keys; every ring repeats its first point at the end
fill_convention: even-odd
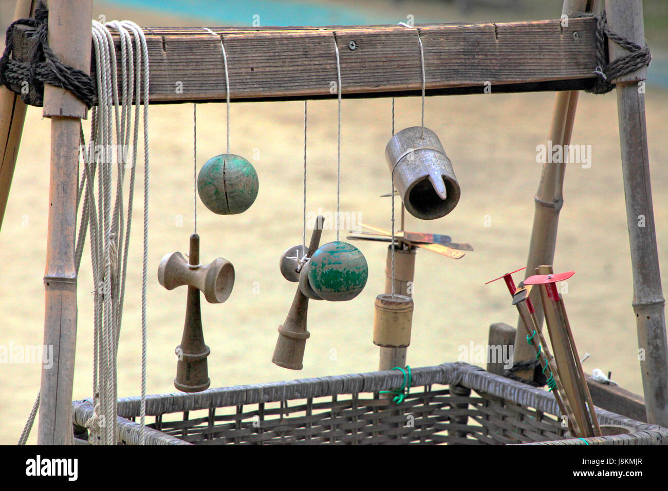
{"type": "MultiPolygon", "coordinates": [[[[668,77],[663,54],[668,51],[668,6],[661,0],[644,4],[654,55],[646,96],[649,158],[663,260],[668,257],[668,77]]],[[[13,0],[0,5],[5,29],[13,0]]],[[[407,15],[413,15],[415,23],[427,23],[556,18],[561,5],[556,0],[486,1],[464,9],[447,1],[124,0],[96,1],[94,15],[140,25],[251,25],[255,13],[263,25],[395,23],[407,15]]],[[[407,216],[406,228],[450,234],[476,250],[459,261],[418,253],[410,365],[456,361],[460,345],[486,343],[490,323],[515,325],[516,313],[503,285],[484,283],[525,264],[540,176],[536,146],[546,144],[553,102],[552,93],[427,100],[426,126],[440,136],[462,198],[456,210],[440,220],[420,222],[407,216]]],[[[344,98],[341,145],[341,209],[387,228],[390,203],[379,195],[389,191],[383,152],[391,130],[390,109],[389,99],[344,98]]],[[[308,211],[335,210],[336,111],[335,100],[309,102],[308,211]]],[[[253,162],[260,193],[241,215],[218,216],[198,206],[202,261],[220,256],[236,269],[234,291],[226,303],[202,302],[212,386],[372,371],[378,357],[371,343],[373,300],[383,290],[385,264],[385,245],[374,242],[355,243],[369,262],[369,282],[359,297],[349,303],[311,303],[304,369],[294,372],[271,363],[276,329],[295,293],[295,285],[281,277],[278,261],[287,247],[301,241],[303,103],[232,104],[231,118],[231,150],[253,162]]],[[[397,100],[397,129],[419,122],[419,98],[397,100]]],[[[198,166],[224,152],[224,135],[224,105],[198,106],[198,166]]],[[[610,370],[615,381],[642,393],[614,94],[580,94],[572,144],[592,146],[592,166],[568,166],[554,267],[576,271],[565,301],[578,350],[591,353],[585,369],[610,370]]],[[[186,291],[166,291],[158,285],[156,271],[165,253],[187,250],[192,233],[192,105],[151,108],[150,154],[148,392],[164,393],[175,390],[174,347],[182,333],[186,291]]],[[[0,345],[42,342],[48,180],[49,121],[40,109],[29,108],[0,233],[0,345]]],[[[140,196],[139,184],[137,192],[140,196]]],[[[121,397],[140,393],[140,203],[136,200],[120,341],[121,397]]],[[[333,230],[325,231],[323,242],[334,239],[333,230]]],[[[91,291],[86,248],[79,275],[76,399],[92,393],[91,291]]],[[[39,390],[39,376],[36,364],[0,364],[0,444],[16,442],[39,390]]],[[[33,432],[29,442],[35,441],[33,432]]]]}

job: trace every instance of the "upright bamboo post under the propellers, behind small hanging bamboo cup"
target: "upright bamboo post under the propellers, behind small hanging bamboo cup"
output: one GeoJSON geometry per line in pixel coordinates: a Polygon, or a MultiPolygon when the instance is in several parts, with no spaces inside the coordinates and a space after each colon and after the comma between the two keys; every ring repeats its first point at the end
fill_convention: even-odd
{"type": "MultiPolygon", "coordinates": [[[[401,243],[399,243],[401,247],[401,243]]],[[[417,249],[410,247],[407,251],[395,249],[394,255],[394,293],[413,297],[413,289],[409,283],[413,283],[415,274],[415,253],[417,249]]],[[[385,263],[385,293],[392,293],[392,244],[387,247],[387,261],[385,263]]],[[[394,367],[406,366],[406,355],[408,348],[383,348],[380,349],[379,370],[391,370],[394,367]]]]}

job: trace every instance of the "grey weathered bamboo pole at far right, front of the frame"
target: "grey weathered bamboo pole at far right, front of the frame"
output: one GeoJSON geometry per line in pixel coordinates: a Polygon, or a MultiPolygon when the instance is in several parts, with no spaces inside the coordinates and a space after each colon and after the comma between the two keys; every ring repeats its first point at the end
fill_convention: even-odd
{"type": "MultiPolygon", "coordinates": [[[[640,0],[606,0],[608,23],[613,31],[645,45],[643,5],[640,0]]],[[[609,42],[610,59],[628,53],[609,42]]],[[[627,208],[631,266],[633,269],[633,311],[636,316],[639,359],[647,422],[668,426],[668,343],[665,329],[663,291],[652,205],[652,188],[647,154],[643,67],[613,80],[617,86],[617,113],[621,144],[622,174],[627,208]]]]}

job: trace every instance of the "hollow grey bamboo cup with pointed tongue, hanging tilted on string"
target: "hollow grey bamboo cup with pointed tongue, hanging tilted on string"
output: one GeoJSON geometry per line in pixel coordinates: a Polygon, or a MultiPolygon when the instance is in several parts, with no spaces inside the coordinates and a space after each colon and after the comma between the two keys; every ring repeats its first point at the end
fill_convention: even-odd
{"type": "Polygon", "coordinates": [[[429,128],[411,126],[394,134],[385,159],[401,202],[415,218],[434,220],[457,206],[461,190],[452,162],[429,128]]]}

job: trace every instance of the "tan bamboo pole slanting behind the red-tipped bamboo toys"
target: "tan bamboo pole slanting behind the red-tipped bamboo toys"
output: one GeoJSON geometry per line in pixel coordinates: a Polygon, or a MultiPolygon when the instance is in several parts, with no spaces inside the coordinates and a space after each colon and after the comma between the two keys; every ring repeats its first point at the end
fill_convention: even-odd
{"type": "MultiPolygon", "coordinates": [[[[562,15],[572,15],[576,12],[597,12],[601,8],[600,0],[564,0],[562,15]]],[[[573,130],[575,112],[578,104],[578,92],[558,92],[554,101],[552,124],[548,141],[552,145],[569,145],[573,130]]],[[[548,152],[552,150],[547,149],[548,152]]],[[[536,210],[529,244],[529,253],[526,259],[526,276],[534,274],[540,265],[554,264],[556,249],[556,232],[559,224],[559,212],[564,204],[563,188],[565,163],[546,162],[542,166],[538,190],[534,197],[536,210]]],[[[543,309],[540,301],[540,289],[532,289],[530,299],[536,309],[538,329],[542,329],[543,309]]],[[[517,335],[515,338],[515,359],[526,361],[532,357],[531,347],[526,346],[526,335],[529,334],[522,318],[518,318],[517,335]]],[[[518,371],[518,377],[528,378],[532,375],[528,371],[518,371]]]]}

